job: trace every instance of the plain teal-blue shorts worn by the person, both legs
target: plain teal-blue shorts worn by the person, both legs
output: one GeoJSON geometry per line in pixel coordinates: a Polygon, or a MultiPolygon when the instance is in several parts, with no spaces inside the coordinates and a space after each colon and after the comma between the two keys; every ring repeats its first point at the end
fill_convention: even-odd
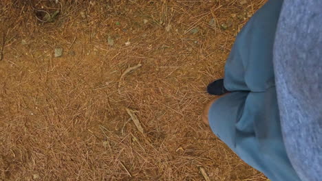
{"type": "Polygon", "coordinates": [[[211,130],[272,181],[300,180],[281,134],[272,50],[281,0],[270,0],[239,32],[226,62],[224,86],[208,114],[211,130]]]}

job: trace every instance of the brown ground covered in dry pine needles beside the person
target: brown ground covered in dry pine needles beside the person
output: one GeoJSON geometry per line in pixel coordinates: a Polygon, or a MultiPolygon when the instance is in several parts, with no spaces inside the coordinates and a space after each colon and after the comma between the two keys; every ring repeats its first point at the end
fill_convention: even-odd
{"type": "Polygon", "coordinates": [[[200,121],[238,16],[264,3],[238,2],[1,1],[0,180],[267,180],[200,121]]]}

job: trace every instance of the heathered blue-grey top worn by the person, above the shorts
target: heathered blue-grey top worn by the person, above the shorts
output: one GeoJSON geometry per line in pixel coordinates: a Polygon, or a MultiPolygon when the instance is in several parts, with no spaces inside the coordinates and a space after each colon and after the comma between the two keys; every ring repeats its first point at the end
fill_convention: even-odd
{"type": "Polygon", "coordinates": [[[301,180],[322,180],[321,1],[284,0],[274,69],[288,157],[301,180]]]}

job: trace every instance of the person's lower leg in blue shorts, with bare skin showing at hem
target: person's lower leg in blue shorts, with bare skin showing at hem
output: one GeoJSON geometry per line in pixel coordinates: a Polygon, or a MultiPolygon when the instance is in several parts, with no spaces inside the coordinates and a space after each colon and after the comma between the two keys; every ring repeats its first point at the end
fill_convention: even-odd
{"type": "Polygon", "coordinates": [[[250,166],[270,180],[299,181],[283,145],[275,87],[218,97],[207,113],[215,135],[250,166]]]}

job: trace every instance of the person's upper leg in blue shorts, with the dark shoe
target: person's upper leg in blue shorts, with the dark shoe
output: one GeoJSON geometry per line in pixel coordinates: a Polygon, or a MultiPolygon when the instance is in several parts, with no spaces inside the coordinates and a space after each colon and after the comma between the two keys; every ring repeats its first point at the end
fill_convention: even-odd
{"type": "MultiPolygon", "coordinates": [[[[282,2],[269,0],[237,35],[225,65],[223,86],[227,90],[262,92],[275,86],[272,48],[282,2]]],[[[222,86],[214,83],[207,91],[218,95],[222,86]]]]}

